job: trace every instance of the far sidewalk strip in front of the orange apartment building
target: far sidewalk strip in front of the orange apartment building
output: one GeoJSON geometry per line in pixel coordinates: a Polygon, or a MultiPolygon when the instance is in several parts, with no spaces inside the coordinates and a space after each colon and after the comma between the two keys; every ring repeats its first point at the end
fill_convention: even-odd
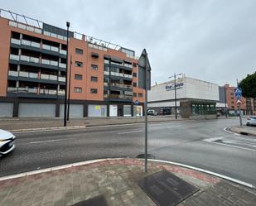
{"type": "MultiPolygon", "coordinates": [[[[149,116],[148,122],[168,122],[184,120],[182,118],[175,119],[174,116],[149,116]]],[[[80,119],[70,119],[67,127],[92,127],[114,124],[130,124],[145,122],[144,117],[87,117],[80,119]]],[[[46,127],[63,127],[63,119],[60,118],[21,118],[21,119],[0,119],[0,129],[7,131],[46,128],[46,127]]]]}

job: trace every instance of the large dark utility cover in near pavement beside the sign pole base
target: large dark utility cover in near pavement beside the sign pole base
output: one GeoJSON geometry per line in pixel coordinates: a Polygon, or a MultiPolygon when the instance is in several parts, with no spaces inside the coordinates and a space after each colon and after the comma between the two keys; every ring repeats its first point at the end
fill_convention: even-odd
{"type": "Polygon", "coordinates": [[[167,170],[143,178],[138,185],[159,206],[173,206],[199,189],[167,170]]]}

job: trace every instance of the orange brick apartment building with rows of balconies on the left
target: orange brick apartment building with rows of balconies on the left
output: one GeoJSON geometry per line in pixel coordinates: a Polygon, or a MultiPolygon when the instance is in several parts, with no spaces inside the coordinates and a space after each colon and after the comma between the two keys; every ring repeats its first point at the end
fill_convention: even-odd
{"type": "Polygon", "coordinates": [[[133,50],[75,31],[67,48],[65,29],[0,13],[0,117],[63,117],[65,78],[70,117],[142,115],[133,50]]]}

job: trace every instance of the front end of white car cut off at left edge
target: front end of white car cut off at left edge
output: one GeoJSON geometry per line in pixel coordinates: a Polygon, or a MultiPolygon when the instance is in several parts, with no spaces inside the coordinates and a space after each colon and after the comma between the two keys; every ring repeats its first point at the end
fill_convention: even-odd
{"type": "Polygon", "coordinates": [[[6,155],[15,148],[15,136],[0,129],[0,156],[6,155]]]}

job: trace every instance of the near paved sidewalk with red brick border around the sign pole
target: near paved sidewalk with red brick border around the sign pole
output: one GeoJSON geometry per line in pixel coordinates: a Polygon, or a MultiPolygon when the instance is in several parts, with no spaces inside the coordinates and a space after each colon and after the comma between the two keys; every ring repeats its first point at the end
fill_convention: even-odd
{"type": "MultiPolygon", "coordinates": [[[[156,205],[138,180],[159,170],[168,170],[200,189],[180,206],[256,205],[255,189],[205,175],[196,170],[150,161],[143,172],[143,160],[100,160],[86,165],[0,180],[1,206],[65,206],[102,195],[105,205],[156,205]]],[[[87,205],[87,204],[86,204],[87,205]]]]}

